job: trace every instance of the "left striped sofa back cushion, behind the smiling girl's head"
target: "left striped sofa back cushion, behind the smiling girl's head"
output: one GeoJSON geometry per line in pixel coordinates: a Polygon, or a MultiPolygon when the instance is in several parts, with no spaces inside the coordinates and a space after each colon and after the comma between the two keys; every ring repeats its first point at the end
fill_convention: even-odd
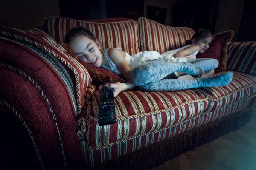
{"type": "Polygon", "coordinates": [[[61,44],[70,29],[79,26],[90,30],[99,39],[103,49],[121,47],[130,55],[140,52],[137,22],[134,20],[96,23],[65,17],[48,17],[43,20],[41,30],[61,44]]]}

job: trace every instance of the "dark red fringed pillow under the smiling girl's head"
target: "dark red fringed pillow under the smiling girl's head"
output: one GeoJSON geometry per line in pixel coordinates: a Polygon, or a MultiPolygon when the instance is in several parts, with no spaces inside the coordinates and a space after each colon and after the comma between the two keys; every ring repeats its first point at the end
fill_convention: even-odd
{"type": "Polygon", "coordinates": [[[100,68],[100,67],[94,67],[90,64],[88,64],[87,62],[84,62],[83,60],[81,60],[79,57],[76,56],[76,54],[74,54],[71,50],[71,47],[66,44],[63,43],[61,44],[63,46],[64,49],[66,49],[66,51],[72,56],[74,57],[77,61],[79,61],[88,71],[88,73],[90,74],[90,77],[92,78],[92,82],[96,85],[96,87],[98,87],[99,85],[102,85],[105,82],[125,82],[125,80],[123,80],[121,77],[119,77],[118,75],[114,74],[111,71],[108,71],[104,68],[100,68]]]}

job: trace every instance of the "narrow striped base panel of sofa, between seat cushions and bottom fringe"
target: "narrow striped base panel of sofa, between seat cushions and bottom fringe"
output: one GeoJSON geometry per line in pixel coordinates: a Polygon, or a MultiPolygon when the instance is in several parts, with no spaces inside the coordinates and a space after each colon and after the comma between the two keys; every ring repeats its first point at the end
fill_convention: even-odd
{"type": "Polygon", "coordinates": [[[122,139],[104,147],[94,148],[88,145],[84,146],[83,149],[86,150],[84,153],[86,153],[87,166],[94,167],[98,164],[105,163],[106,161],[140,150],[148,145],[169,139],[188,130],[195,129],[196,127],[206,125],[209,122],[213,122],[217,119],[242,111],[245,108],[248,108],[252,99],[253,98],[244,99],[224,106],[216,111],[204,112],[201,115],[176,123],[175,125],[141,135],[132,136],[127,139],[122,139]]]}

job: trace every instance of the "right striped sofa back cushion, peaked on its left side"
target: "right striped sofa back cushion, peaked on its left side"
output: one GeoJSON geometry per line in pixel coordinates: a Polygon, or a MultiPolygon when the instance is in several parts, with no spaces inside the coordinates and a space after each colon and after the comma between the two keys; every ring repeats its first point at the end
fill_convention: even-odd
{"type": "Polygon", "coordinates": [[[185,46],[195,31],[188,27],[170,27],[147,18],[139,18],[139,44],[141,51],[157,51],[160,54],[185,46]]]}

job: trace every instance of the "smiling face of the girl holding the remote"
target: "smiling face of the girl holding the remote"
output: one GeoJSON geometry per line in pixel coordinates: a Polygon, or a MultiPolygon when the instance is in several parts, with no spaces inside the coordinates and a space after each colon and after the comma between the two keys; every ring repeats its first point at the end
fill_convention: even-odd
{"type": "Polygon", "coordinates": [[[102,64],[102,53],[100,51],[101,46],[99,40],[94,42],[90,38],[79,35],[76,36],[69,45],[73,51],[83,61],[93,65],[95,67],[100,67],[102,64]]]}

